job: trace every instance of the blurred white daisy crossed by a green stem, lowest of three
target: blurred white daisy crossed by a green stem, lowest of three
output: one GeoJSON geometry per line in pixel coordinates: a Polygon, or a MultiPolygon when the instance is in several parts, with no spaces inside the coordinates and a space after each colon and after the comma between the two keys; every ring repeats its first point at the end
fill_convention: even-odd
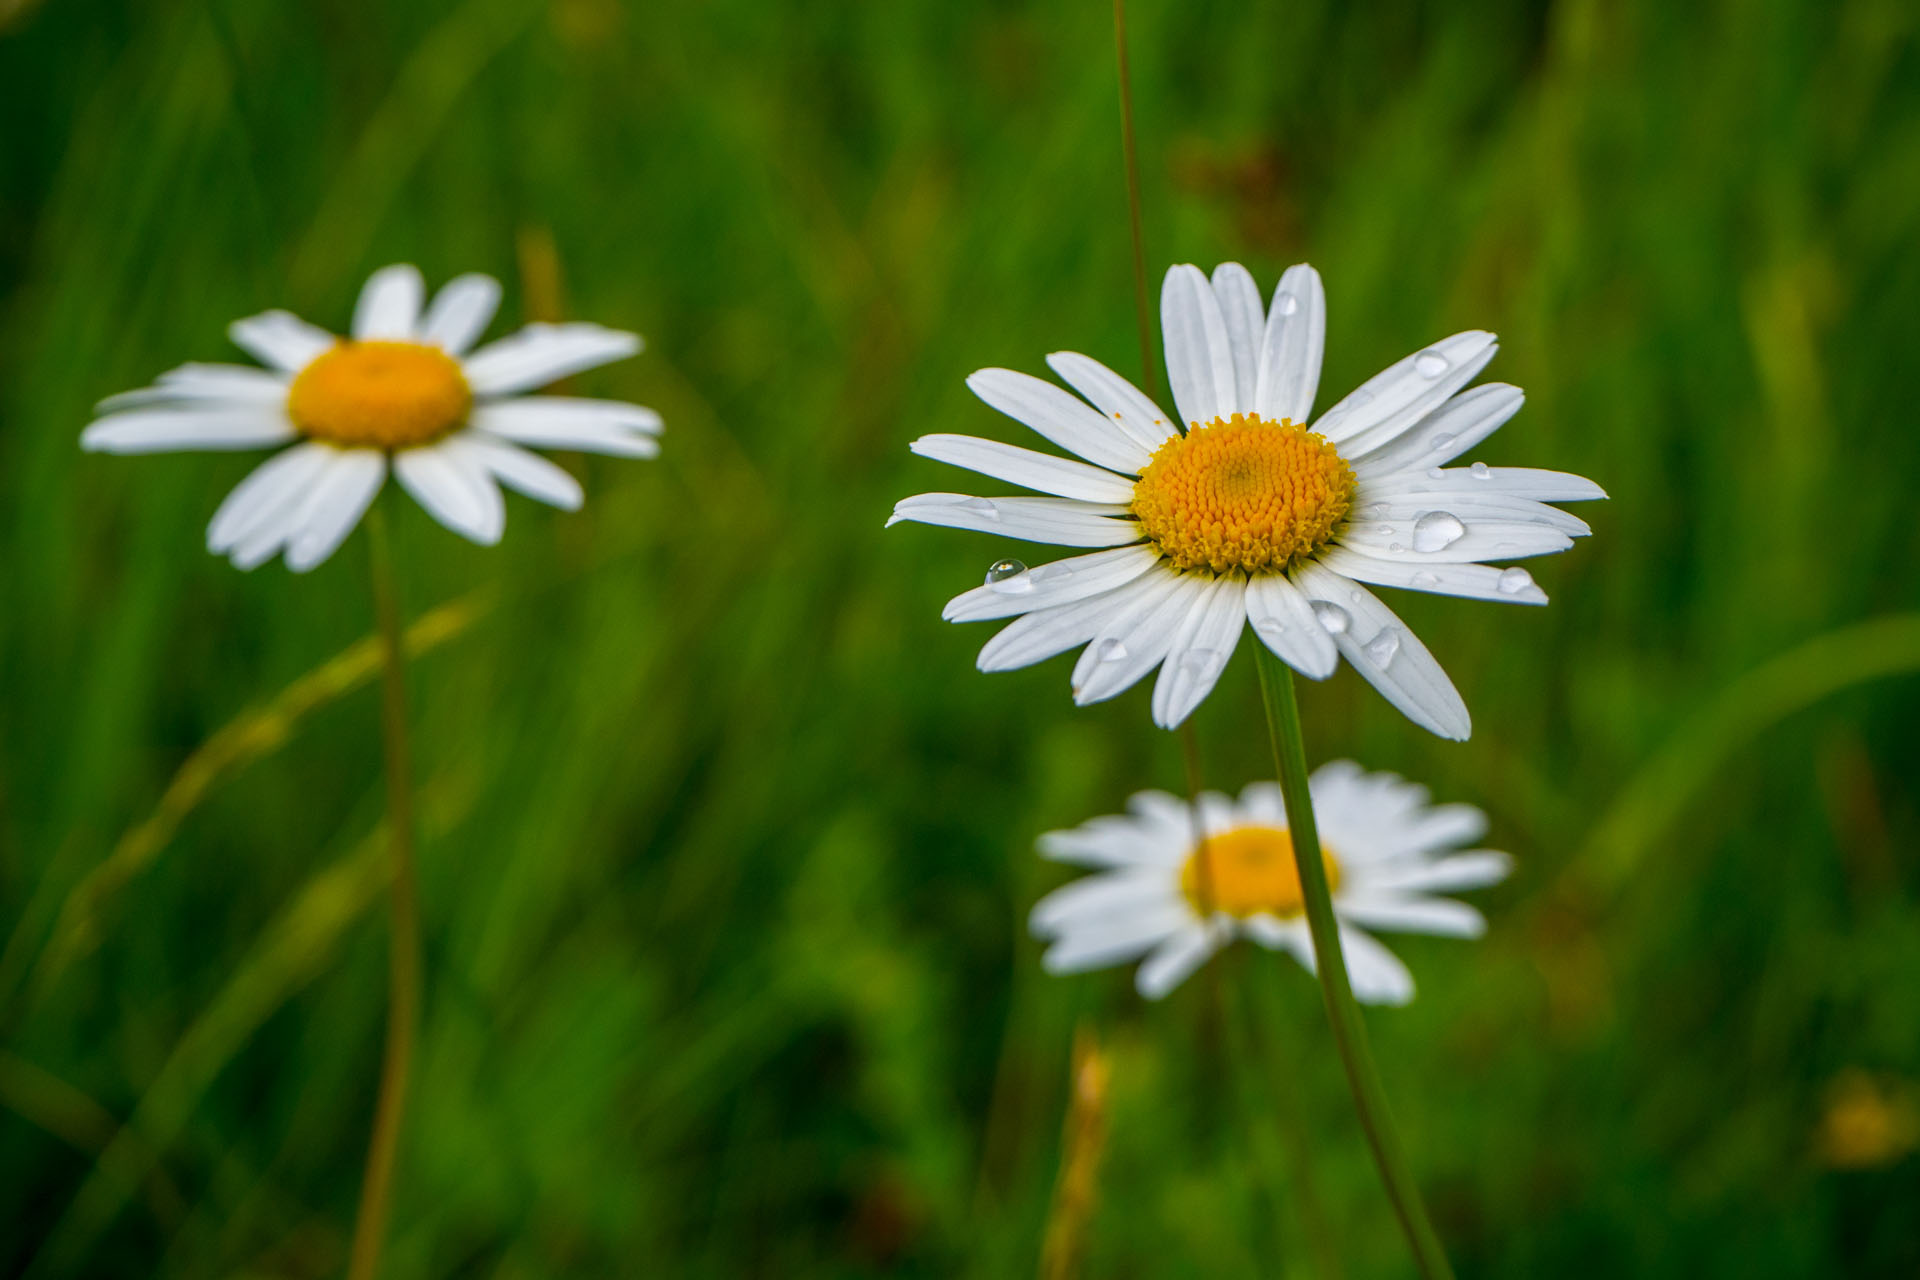
{"type": "MultiPolygon", "coordinates": [[[[1434,894],[1494,885],[1511,862],[1492,850],[1453,852],[1486,833],[1480,810],[1430,804],[1425,787],[1392,773],[1336,760],[1309,785],[1354,996],[1405,1004],[1413,975],[1369,929],[1476,938],[1482,915],[1434,894]]],[[[1048,973],[1144,956],[1135,986],[1158,1000],[1238,935],[1313,969],[1279,785],[1254,783],[1238,800],[1204,793],[1198,823],[1194,806],[1164,791],[1139,793],[1127,810],[1041,837],[1043,856],[1098,867],[1033,908],[1033,933],[1050,944],[1048,973]]]]}

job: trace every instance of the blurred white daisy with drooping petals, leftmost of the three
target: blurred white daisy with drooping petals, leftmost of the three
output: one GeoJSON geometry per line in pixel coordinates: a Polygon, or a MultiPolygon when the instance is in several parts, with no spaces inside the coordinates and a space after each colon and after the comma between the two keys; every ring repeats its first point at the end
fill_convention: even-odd
{"type": "Polygon", "coordinates": [[[522,445],[647,459],[660,415],[572,395],[524,395],[639,351],[599,324],[528,324],[472,349],[499,284],[467,274],[432,305],[413,267],[376,271],[336,338],[286,311],[236,320],[234,345],[261,361],[182,365],[100,403],[81,436],[100,453],[292,445],[242,480],[207,526],[207,549],[253,568],[286,553],[303,572],[334,553],[386,482],[476,543],[499,541],[499,486],[574,510],[580,482],[522,445]]]}

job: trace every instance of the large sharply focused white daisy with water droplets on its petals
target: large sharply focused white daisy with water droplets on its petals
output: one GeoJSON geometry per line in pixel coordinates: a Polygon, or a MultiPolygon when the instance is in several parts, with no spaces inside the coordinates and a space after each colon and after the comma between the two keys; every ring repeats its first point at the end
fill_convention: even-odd
{"type": "Polygon", "coordinates": [[[1010,368],[968,386],[1085,461],[972,436],[914,441],[914,453],[1048,497],[922,493],[889,524],[1106,547],[1031,570],[1000,560],[952,599],[950,622],[1018,616],[979,668],[1083,647],[1073,700],[1087,704],[1158,666],[1154,722],[1171,729],[1250,622],[1300,674],[1325,679],[1346,656],[1415,723],[1465,739],[1453,681],[1361,583],[1546,604],[1524,568],[1490,562],[1565,551],[1588,526],[1548,503],[1605,497],[1561,472],[1446,466],[1521,407],[1513,386],[1463,390],[1494,359],[1494,336],[1423,347],[1311,418],[1327,334],[1311,267],[1281,276],[1271,307],[1238,263],[1212,280],[1173,267],[1160,317],[1179,420],[1106,365],[1062,351],[1046,363],[1079,397],[1010,368]]]}

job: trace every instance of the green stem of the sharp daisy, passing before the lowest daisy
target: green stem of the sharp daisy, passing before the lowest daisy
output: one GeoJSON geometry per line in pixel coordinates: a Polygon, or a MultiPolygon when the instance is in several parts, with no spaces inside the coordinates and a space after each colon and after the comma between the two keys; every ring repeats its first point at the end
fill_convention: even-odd
{"type": "Polygon", "coordinates": [[[1263,645],[1254,645],[1260,662],[1260,691],[1267,706],[1267,735],[1273,741],[1273,768],[1286,796],[1286,829],[1292,833],[1294,864],[1300,867],[1300,894],[1306,898],[1308,929],[1313,933],[1315,971],[1321,996],[1327,1000],[1327,1021],[1346,1067],[1346,1082],[1354,1090],[1354,1109],[1359,1126],[1367,1130],[1373,1163],[1380,1169],[1386,1196],[1394,1201],[1400,1228],[1407,1236],[1413,1259],[1427,1280],[1453,1280],[1440,1240],[1427,1221],[1419,1186],[1407,1169],[1407,1153],[1386,1109],[1386,1090],[1367,1048],[1367,1027],[1354,1002],[1346,977],[1346,956],[1340,952],[1340,925],[1332,913],[1332,890],[1327,885],[1327,862],[1321,856],[1319,829],[1313,825],[1313,800],[1308,794],[1308,752],[1300,735],[1300,704],[1294,700],[1294,676],[1263,645]]]}

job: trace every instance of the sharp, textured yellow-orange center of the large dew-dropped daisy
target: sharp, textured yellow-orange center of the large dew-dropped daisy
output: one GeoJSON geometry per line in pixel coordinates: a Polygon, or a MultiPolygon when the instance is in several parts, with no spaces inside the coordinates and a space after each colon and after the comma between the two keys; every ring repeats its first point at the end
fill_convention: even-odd
{"type": "Polygon", "coordinates": [[[1288,418],[1250,413],[1175,436],[1133,486],[1140,532],[1175,568],[1281,572],[1346,518],[1354,468],[1288,418]]]}

